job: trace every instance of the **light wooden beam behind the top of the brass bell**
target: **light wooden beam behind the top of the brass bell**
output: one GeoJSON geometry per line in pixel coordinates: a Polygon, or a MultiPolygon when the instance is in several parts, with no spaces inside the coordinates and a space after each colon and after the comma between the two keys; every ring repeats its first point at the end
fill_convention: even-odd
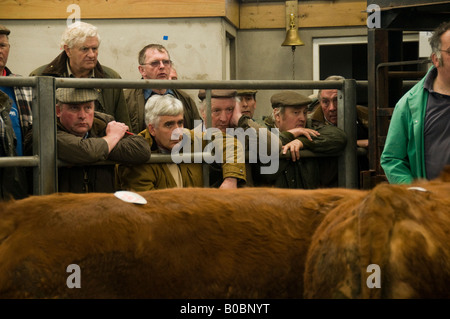
{"type": "MultiPolygon", "coordinates": [[[[299,28],[366,25],[367,2],[362,0],[299,1],[299,28]]],[[[240,29],[285,28],[285,3],[242,3],[240,29]]]]}

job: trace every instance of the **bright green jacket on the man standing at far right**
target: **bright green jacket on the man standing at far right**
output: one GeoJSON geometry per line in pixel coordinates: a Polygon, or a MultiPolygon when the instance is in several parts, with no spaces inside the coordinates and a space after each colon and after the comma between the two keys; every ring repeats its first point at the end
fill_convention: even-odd
{"type": "Polygon", "coordinates": [[[428,91],[423,85],[428,74],[397,102],[380,158],[381,167],[391,184],[410,184],[426,178],[424,123],[428,91]]]}

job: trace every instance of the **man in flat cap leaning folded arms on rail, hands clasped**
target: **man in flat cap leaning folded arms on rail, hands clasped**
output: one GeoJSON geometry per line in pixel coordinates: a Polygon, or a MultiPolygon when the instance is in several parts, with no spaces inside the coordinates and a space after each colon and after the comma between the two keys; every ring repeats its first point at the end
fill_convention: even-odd
{"type": "Polygon", "coordinates": [[[59,88],[55,95],[58,159],[76,164],[60,167],[59,192],[114,192],[114,164],[88,164],[134,165],[150,159],[150,146],[142,136],[128,134],[128,125],[94,111],[95,89],[59,88]]]}

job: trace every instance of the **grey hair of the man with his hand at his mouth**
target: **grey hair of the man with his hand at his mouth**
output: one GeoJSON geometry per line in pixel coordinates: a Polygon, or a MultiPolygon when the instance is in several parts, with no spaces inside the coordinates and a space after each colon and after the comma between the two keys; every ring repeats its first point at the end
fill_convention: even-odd
{"type": "Polygon", "coordinates": [[[161,116],[183,114],[183,103],[173,95],[152,95],[145,103],[145,125],[158,126],[161,116]]]}

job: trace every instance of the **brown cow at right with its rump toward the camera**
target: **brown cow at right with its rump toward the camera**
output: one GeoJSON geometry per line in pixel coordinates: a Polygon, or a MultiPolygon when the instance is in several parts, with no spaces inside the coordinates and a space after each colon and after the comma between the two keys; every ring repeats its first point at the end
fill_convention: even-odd
{"type": "Polygon", "coordinates": [[[381,184],[330,211],[311,242],[304,297],[450,298],[449,182],[447,171],[381,184]]]}

